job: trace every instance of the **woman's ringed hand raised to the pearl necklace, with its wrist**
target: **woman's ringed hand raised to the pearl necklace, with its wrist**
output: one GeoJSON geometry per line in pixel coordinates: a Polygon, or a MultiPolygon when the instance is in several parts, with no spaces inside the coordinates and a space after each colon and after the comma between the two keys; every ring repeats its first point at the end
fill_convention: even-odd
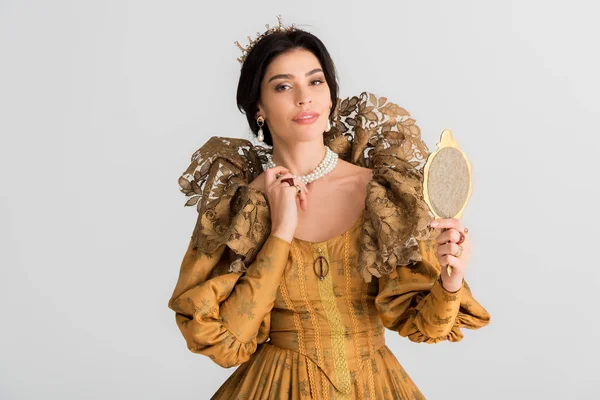
{"type": "Polygon", "coordinates": [[[298,207],[307,209],[308,188],[300,179],[294,178],[285,167],[269,168],[264,176],[264,187],[271,213],[271,234],[291,243],[298,226],[298,207]],[[279,178],[276,178],[277,174],[281,174],[279,178]],[[286,178],[292,178],[294,185],[282,182],[286,178]],[[296,185],[302,187],[299,195],[297,195],[296,185]]]}

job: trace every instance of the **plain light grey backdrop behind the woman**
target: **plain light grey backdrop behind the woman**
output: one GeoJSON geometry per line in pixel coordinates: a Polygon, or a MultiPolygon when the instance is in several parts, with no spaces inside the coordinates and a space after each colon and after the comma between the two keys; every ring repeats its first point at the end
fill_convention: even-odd
{"type": "Polygon", "coordinates": [[[177,178],[249,137],[235,40],[281,13],[341,96],[405,107],[473,165],[467,280],[492,322],[388,345],[428,399],[592,399],[598,6],[583,1],[0,1],[0,398],[208,398],[233,372],[167,301],[194,222],[177,178]]]}

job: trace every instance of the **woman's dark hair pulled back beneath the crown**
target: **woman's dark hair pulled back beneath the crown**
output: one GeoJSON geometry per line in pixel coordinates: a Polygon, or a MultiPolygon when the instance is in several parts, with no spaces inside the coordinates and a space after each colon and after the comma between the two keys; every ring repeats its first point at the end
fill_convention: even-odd
{"type": "MultiPolygon", "coordinates": [[[[237,89],[237,105],[240,112],[246,114],[250,130],[256,135],[258,133],[258,124],[255,115],[258,111],[258,101],[260,100],[261,82],[265,77],[267,67],[278,55],[295,50],[305,49],[317,57],[321,63],[325,80],[331,93],[331,112],[329,118],[332,118],[337,107],[338,84],[337,75],[333,60],[325,45],[319,38],[312,33],[297,29],[295,31],[285,31],[272,33],[262,38],[248,53],[246,60],[242,64],[240,80],[237,89]]],[[[264,143],[273,146],[273,137],[269,131],[268,124],[263,125],[264,143]]]]}

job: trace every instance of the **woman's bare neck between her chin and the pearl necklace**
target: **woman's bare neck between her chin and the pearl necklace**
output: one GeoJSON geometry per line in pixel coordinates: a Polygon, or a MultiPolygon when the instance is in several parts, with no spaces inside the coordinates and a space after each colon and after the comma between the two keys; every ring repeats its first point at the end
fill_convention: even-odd
{"type": "Polygon", "coordinates": [[[273,162],[287,168],[292,175],[311,173],[325,157],[323,140],[310,142],[273,143],[273,162]]]}

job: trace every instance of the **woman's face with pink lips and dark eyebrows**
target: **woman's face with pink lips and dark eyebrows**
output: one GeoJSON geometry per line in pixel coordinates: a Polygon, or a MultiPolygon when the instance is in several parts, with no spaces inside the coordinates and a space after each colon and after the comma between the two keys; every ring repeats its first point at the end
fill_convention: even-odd
{"type": "Polygon", "coordinates": [[[319,60],[304,49],[277,56],[261,83],[258,113],[275,137],[285,142],[323,136],[331,110],[331,93],[319,60]],[[302,112],[316,114],[300,119],[302,112]]]}

